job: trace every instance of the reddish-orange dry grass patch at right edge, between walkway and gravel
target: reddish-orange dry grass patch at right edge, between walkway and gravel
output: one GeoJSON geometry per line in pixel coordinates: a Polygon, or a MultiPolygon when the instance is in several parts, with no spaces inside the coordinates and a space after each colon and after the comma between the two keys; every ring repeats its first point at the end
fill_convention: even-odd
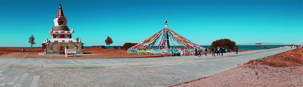
{"type": "MultiPolygon", "coordinates": [[[[259,64],[273,66],[273,67],[288,67],[303,65],[303,47],[291,50],[285,53],[272,56],[265,60],[256,61],[259,64]]],[[[254,63],[254,60],[250,60],[246,64],[254,63]]]]}

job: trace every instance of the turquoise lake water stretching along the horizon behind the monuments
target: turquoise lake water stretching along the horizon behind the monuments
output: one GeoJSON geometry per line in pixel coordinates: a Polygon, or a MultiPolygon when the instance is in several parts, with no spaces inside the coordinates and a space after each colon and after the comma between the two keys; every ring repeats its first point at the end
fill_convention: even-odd
{"type": "MultiPolygon", "coordinates": [[[[289,45],[265,45],[270,46],[271,49],[278,48],[278,47],[285,47],[289,45]]],[[[206,47],[210,49],[210,46],[201,46],[206,47]]],[[[239,50],[263,50],[264,46],[255,46],[255,45],[238,45],[239,50]]],[[[7,47],[7,48],[31,48],[31,47],[7,47]]],[[[32,48],[41,48],[41,47],[32,47],[32,48]]],[[[84,46],[84,49],[91,48],[90,46],[84,46]]],[[[106,48],[109,48],[109,46],[106,46],[106,48]]],[[[114,46],[111,46],[111,49],[114,48],[114,46]]]]}

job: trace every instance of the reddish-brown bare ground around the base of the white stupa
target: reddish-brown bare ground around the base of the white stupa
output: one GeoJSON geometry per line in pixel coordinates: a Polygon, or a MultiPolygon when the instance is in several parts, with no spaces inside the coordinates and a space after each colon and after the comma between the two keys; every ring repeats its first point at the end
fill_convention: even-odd
{"type": "Polygon", "coordinates": [[[144,55],[144,54],[128,54],[127,50],[121,49],[100,49],[100,48],[89,48],[84,49],[83,54],[77,54],[76,57],[73,55],[38,55],[42,53],[42,49],[36,48],[30,51],[30,49],[18,48],[4,48],[0,47],[0,57],[5,58],[35,58],[35,59],[101,59],[101,58],[144,58],[144,57],[163,57],[160,55],[144,55]],[[28,50],[28,51],[27,51],[28,50]]]}

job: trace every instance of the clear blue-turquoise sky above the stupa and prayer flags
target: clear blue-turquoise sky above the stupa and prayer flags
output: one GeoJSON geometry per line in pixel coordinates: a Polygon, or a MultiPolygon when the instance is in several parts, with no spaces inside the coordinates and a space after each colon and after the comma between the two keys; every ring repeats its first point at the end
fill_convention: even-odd
{"type": "Polygon", "coordinates": [[[41,47],[61,3],[84,46],[140,43],[165,26],[198,45],[303,43],[303,1],[0,1],[0,47],[41,47]]]}

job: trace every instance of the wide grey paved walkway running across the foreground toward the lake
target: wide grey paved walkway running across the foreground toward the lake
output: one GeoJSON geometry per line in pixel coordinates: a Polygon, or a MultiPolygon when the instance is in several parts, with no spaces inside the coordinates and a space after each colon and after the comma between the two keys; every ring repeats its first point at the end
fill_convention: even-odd
{"type": "Polygon", "coordinates": [[[223,53],[223,56],[215,57],[208,54],[208,56],[202,55],[199,57],[174,56],[129,59],[0,58],[0,87],[35,87],[38,84],[39,86],[47,86],[45,84],[53,83],[46,82],[52,81],[63,81],[58,85],[52,86],[169,86],[213,75],[247,63],[249,60],[293,49],[295,48],[252,50],[239,52],[239,54],[235,54],[234,52],[223,53]],[[29,72],[35,71],[40,73],[36,75],[14,70],[28,70],[29,72]],[[77,75],[66,74],[72,73],[70,70],[79,72],[77,75]],[[85,70],[85,73],[81,74],[81,70],[85,70]],[[50,72],[55,74],[49,74],[50,72]],[[58,76],[56,76],[57,74],[58,76]],[[85,75],[93,75],[93,77],[85,75]],[[52,79],[56,78],[57,80],[51,80],[48,77],[52,79]],[[70,80],[66,80],[66,78],[70,78],[70,80]],[[85,83],[73,85],[74,80],[87,82],[86,85],[85,83]],[[89,85],[88,83],[95,85],[89,85]]]}

